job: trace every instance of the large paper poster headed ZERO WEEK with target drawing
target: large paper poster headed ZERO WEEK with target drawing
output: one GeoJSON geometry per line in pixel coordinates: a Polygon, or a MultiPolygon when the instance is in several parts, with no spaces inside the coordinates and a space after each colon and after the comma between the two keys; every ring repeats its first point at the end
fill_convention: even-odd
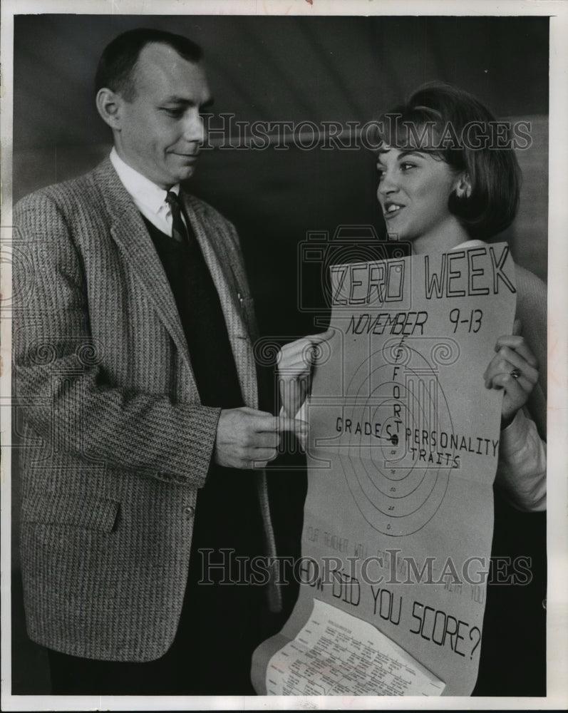
{"type": "MultiPolygon", "coordinates": [[[[425,694],[468,695],[482,647],[502,403],[483,374],[497,338],[512,333],[515,266],[507,245],[477,243],[337,265],[331,277],[334,334],[307,404],[299,600],[255,652],[253,682],[259,693],[289,686],[282,657],[280,674],[269,661],[296,639],[315,600],[373,625],[430,683],[445,684],[425,694]]],[[[331,680],[321,691],[340,692],[331,680]]]]}

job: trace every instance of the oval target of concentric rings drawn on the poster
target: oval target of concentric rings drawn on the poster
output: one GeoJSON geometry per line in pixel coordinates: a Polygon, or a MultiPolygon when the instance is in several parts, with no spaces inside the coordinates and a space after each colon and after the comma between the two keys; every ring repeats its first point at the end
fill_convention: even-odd
{"type": "Polygon", "coordinates": [[[431,435],[451,430],[438,373],[404,346],[396,363],[374,353],[353,374],[344,406],[351,435],[337,461],[363,518],[393,537],[418,532],[433,518],[455,455],[440,452],[431,435]]]}

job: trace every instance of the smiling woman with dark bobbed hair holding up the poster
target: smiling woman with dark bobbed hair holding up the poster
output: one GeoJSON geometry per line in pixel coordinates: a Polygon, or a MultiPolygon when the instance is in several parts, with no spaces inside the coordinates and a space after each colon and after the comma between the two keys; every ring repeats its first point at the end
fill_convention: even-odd
{"type": "MultiPolygon", "coordinates": [[[[473,96],[441,83],[423,86],[408,103],[379,118],[378,201],[387,232],[409,241],[413,254],[483,245],[481,240],[511,224],[519,201],[520,169],[510,144],[502,135],[496,139],[495,126],[495,118],[473,96]]],[[[546,287],[522,267],[516,267],[516,286],[513,334],[497,339],[495,356],[483,378],[485,388],[503,391],[497,486],[516,508],[542,511],[546,507],[546,287]]],[[[282,349],[279,379],[286,415],[296,414],[303,403],[317,352],[314,347],[329,337],[325,332],[282,349]]],[[[512,510],[496,495],[494,555],[505,555],[504,548],[515,545],[518,526],[525,525],[517,525],[512,510]]],[[[510,608],[510,595],[516,593],[506,589],[503,603],[510,608]]],[[[502,620],[492,593],[488,601],[474,693],[544,694],[537,689],[521,691],[523,677],[518,669],[507,687],[507,672],[500,665],[514,656],[518,646],[510,632],[500,636],[515,642],[508,648],[488,630],[487,622],[498,628],[502,620]]],[[[520,622],[521,628],[526,625],[520,622]]],[[[534,662],[527,662],[527,672],[535,674],[534,662]]]]}

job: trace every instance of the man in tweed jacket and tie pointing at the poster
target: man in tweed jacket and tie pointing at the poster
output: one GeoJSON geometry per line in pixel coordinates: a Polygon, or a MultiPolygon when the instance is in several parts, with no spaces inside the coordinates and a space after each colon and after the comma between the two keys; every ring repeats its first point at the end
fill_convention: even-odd
{"type": "Polygon", "coordinates": [[[201,56],[150,29],[111,42],[110,158],[14,210],[26,622],[56,694],[252,693],[278,607],[272,585],[203,571],[274,554],[252,468],[299,424],[256,409],[236,232],[180,190],[211,102],[201,56]]]}

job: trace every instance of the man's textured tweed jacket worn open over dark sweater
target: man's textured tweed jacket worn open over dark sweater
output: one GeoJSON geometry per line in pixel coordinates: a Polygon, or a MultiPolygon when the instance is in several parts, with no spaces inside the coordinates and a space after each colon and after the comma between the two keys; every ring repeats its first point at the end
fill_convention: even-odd
{"type": "MultiPolygon", "coordinates": [[[[254,408],[254,314],[237,234],[205,202],[183,200],[254,408]]],[[[21,200],[14,241],[29,636],[76,656],[154,660],[177,629],[220,409],[200,404],[170,285],[110,160],[21,200]]],[[[262,473],[258,493],[274,554],[262,473]]]]}

